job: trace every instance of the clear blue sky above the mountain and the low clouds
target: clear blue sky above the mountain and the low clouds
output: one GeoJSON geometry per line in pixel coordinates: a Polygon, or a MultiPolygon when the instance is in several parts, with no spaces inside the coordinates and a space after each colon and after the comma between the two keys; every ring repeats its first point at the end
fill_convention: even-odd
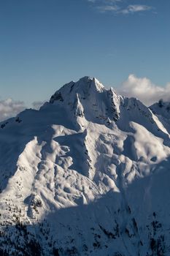
{"type": "Polygon", "coordinates": [[[0,100],[48,99],[90,75],[170,82],[169,0],[1,0],[0,100]]]}

